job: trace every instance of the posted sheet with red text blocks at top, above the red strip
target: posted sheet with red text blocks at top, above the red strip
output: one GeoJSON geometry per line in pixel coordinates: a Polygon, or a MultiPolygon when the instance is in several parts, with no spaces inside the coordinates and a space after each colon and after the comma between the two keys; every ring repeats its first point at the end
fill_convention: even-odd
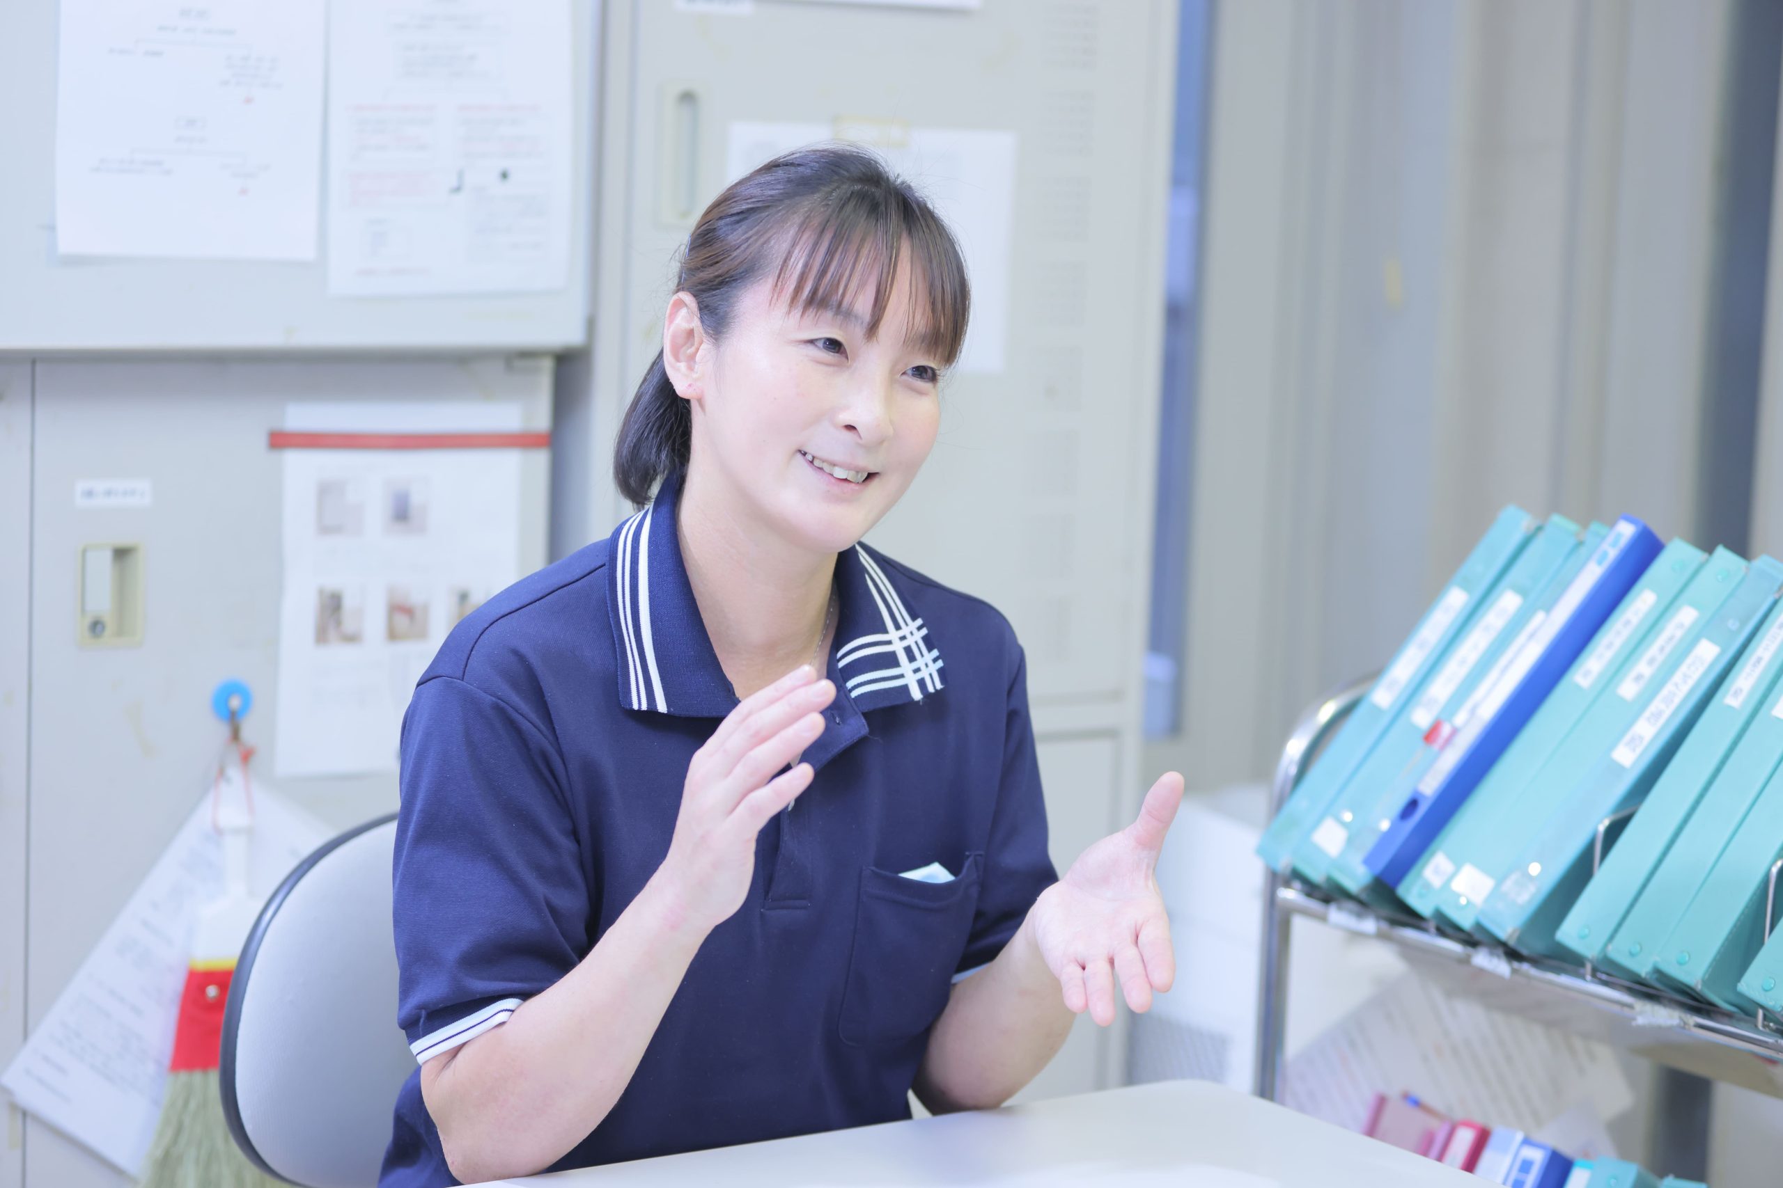
{"type": "Polygon", "coordinates": [[[355,0],[328,27],[328,290],[569,283],[569,0],[355,0]]]}

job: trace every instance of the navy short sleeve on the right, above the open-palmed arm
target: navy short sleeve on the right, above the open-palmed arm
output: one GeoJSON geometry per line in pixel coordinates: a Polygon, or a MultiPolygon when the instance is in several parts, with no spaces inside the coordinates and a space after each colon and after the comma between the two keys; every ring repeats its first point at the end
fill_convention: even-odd
{"type": "Polygon", "coordinates": [[[1039,787],[1034,723],[1027,711],[1027,657],[1018,645],[1015,652],[1015,675],[1009,679],[1004,712],[1002,778],[984,853],[984,882],[957,974],[995,960],[1022,928],[1039,892],[1059,882],[1047,853],[1047,801],[1039,787]]]}

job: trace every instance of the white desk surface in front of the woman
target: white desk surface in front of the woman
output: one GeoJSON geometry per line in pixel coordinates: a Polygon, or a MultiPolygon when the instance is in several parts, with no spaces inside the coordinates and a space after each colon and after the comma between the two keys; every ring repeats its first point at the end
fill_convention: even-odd
{"type": "Polygon", "coordinates": [[[1482,1181],[1220,1085],[1161,1081],[499,1183],[526,1188],[1469,1188],[1482,1181]]]}

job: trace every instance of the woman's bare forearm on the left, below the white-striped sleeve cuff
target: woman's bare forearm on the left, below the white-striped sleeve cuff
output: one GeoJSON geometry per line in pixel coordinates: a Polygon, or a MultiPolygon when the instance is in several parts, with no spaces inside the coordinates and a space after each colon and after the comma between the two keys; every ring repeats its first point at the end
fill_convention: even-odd
{"type": "Polygon", "coordinates": [[[453,1176],[528,1176],[587,1138],[631,1081],[704,939],[653,878],[562,981],[430,1060],[421,1090],[453,1176]]]}

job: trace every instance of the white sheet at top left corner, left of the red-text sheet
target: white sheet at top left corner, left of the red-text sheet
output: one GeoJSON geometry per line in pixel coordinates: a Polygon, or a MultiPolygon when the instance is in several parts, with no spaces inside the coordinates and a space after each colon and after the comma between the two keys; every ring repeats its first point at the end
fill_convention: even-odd
{"type": "Polygon", "coordinates": [[[62,0],[57,251],[314,260],[325,14],[325,0],[62,0]]]}

